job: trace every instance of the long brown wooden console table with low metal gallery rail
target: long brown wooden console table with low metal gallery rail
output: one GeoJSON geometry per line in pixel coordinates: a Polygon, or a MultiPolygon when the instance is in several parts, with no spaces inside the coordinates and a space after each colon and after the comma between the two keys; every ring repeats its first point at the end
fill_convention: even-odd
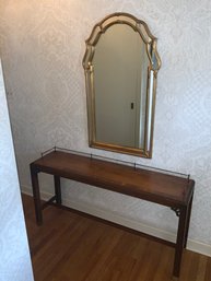
{"type": "MultiPolygon", "coordinates": [[[[178,278],[187,244],[195,182],[181,176],[148,171],[95,157],[54,150],[31,163],[37,224],[43,223],[38,173],[54,176],[55,196],[47,202],[61,204],[60,177],[93,185],[169,207],[178,216],[173,276],[178,278]]],[[[85,188],[85,187],[84,187],[85,188]]],[[[46,204],[46,203],[45,203],[46,204]]]]}

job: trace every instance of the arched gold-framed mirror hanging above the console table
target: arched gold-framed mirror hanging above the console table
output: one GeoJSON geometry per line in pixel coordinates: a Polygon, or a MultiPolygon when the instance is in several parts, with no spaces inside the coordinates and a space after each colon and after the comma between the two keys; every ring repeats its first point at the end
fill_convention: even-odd
{"type": "Polygon", "coordinates": [[[152,157],[161,60],[148,25],[127,13],[96,24],[83,58],[90,147],[152,157]]]}

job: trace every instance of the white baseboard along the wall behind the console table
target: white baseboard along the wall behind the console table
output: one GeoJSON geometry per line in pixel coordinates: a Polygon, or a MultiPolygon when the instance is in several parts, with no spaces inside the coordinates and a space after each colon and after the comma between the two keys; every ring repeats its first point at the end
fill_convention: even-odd
{"type": "MultiPolygon", "coordinates": [[[[32,196],[32,188],[22,186],[22,192],[32,196]]],[[[52,197],[52,195],[48,194],[48,192],[42,192],[40,196],[42,196],[42,199],[44,199],[44,200],[48,200],[50,197],[52,197]]],[[[129,227],[129,229],[132,229],[136,231],[140,231],[142,233],[153,235],[153,236],[162,238],[162,239],[166,239],[169,242],[176,241],[176,235],[173,233],[163,231],[161,229],[152,227],[150,225],[140,223],[136,220],[131,220],[131,219],[129,220],[129,219],[127,219],[116,212],[113,212],[113,211],[102,210],[102,209],[93,207],[89,203],[84,203],[84,202],[82,203],[80,201],[71,201],[70,199],[62,199],[62,203],[63,203],[63,206],[70,207],[78,211],[82,211],[82,212],[95,215],[97,218],[124,225],[126,227],[129,227]]],[[[187,248],[192,251],[211,257],[211,246],[210,245],[200,243],[198,241],[188,239],[187,248]]]]}

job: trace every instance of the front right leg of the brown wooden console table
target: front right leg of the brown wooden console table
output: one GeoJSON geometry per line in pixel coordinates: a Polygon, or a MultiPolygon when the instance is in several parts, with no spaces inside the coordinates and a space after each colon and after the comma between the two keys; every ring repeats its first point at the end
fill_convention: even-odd
{"type": "Polygon", "coordinates": [[[180,208],[179,221],[178,221],[178,231],[177,231],[177,241],[175,246],[175,260],[173,276],[178,278],[180,272],[181,256],[185,246],[186,238],[186,222],[187,222],[187,207],[180,208]]]}

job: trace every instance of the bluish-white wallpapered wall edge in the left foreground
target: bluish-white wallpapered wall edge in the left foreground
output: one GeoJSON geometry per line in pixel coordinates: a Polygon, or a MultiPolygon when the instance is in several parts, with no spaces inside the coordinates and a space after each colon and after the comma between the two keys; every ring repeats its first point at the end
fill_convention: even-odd
{"type": "Polygon", "coordinates": [[[0,60],[0,281],[33,281],[0,60]]]}

